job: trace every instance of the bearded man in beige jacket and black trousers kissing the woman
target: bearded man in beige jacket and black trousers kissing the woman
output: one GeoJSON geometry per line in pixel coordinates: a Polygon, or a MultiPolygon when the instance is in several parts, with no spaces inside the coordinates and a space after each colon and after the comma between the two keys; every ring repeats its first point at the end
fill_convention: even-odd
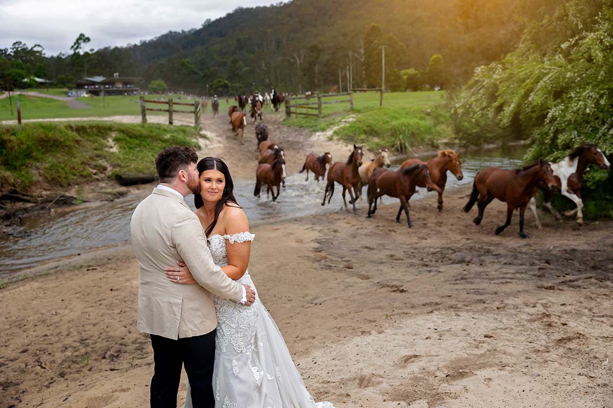
{"type": "Polygon", "coordinates": [[[183,199],[200,193],[191,147],[167,147],[156,158],[159,185],[134,210],[132,246],[139,261],[137,329],[149,333],[154,374],[151,407],[176,408],[185,364],[194,407],[213,407],[213,362],[217,318],[211,293],[251,306],[255,292],[213,263],[207,237],[183,199]],[[182,259],[197,284],[177,285],[164,268],[182,259]]]}

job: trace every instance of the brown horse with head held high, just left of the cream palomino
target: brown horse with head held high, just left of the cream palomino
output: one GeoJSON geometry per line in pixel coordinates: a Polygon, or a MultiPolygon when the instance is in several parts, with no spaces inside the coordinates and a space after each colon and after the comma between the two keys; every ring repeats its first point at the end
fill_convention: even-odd
{"type": "Polygon", "coordinates": [[[343,202],[345,202],[345,209],[347,208],[347,201],[345,199],[345,191],[349,190],[349,196],[351,197],[351,201],[349,204],[352,204],[353,211],[356,212],[356,200],[359,197],[359,187],[360,187],[360,173],[358,169],[362,164],[362,147],[353,145],[353,151],[349,155],[346,163],[341,163],[337,161],[336,163],[332,163],[330,169],[328,170],[328,183],[326,184],[326,192],[324,193],[324,201],[321,202],[322,206],[326,205],[326,196],[328,195],[328,191],[330,191],[330,198],[328,199],[328,204],[330,204],[330,200],[332,199],[332,195],[334,194],[334,182],[343,186],[343,202]],[[353,193],[351,192],[351,188],[353,188],[353,193]]]}

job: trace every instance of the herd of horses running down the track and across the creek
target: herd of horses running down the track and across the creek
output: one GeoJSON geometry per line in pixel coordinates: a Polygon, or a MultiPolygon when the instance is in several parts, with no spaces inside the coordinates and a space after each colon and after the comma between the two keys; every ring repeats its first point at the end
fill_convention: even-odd
{"type": "MultiPolygon", "coordinates": [[[[274,90],[273,90],[274,91],[274,90]]],[[[274,95],[280,95],[274,93],[274,95]]],[[[283,96],[283,95],[280,95],[283,96]]],[[[251,103],[252,113],[257,115],[258,100],[256,95],[245,99],[243,108],[240,103],[244,95],[238,95],[239,106],[230,106],[228,114],[230,124],[235,135],[241,132],[241,143],[244,143],[243,132],[246,126],[246,102],[251,103]],[[253,102],[255,100],[255,102],[253,102]]],[[[254,117],[254,122],[257,119],[254,117]]],[[[280,195],[281,185],[285,187],[286,161],[283,147],[268,140],[268,127],[265,124],[256,125],[256,142],[258,150],[256,168],[255,196],[260,196],[261,188],[267,188],[267,196],[272,195],[273,201],[280,195]],[[275,193],[276,188],[276,193],[275,193]]],[[[478,215],[474,223],[479,225],[483,219],[485,207],[493,199],[506,202],[506,221],[495,229],[498,235],[510,224],[512,214],[519,209],[519,236],[528,238],[524,232],[524,213],[528,206],[535,216],[536,226],[541,229],[542,225],[536,212],[536,193],[538,190],[544,193],[544,207],[549,209],[560,220],[561,216],[550,204],[554,191],[559,191],[563,196],[571,199],[576,204],[576,209],[564,212],[566,216],[577,214],[576,221],[583,224],[583,202],[581,199],[581,187],[585,169],[588,165],[595,165],[602,169],[611,167],[611,164],[603,152],[595,144],[583,143],[573,149],[568,156],[557,163],[549,163],[539,159],[535,163],[522,169],[508,170],[500,168],[485,168],[479,171],[473,182],[473,189],[463,212],[470,212],[477,204],[478,215]]],[[[378,198],[390,196],[400,201],[400,207],[396,215],[396,222],[400,223],[402,213],[405,213],[406,223],[409,228],[413,227],[409,216],[409,200],[416,191],[416,187],[426,188],[428,191],[438,193],[437,208],[443,210],[443,192],[447,182],[447,171],[451,172],[457,180],[463,179],[462,163],[460,154],[451,149],[438,152],[436,157],[427,162],[417,158],[405,160],[400,169],[389,169],[391,163],[389,153],[379,150],[373,160],[364,160],[364,150],[361,146],[354,145],[351,154],[345,161],[332,161],[330,152],[322,155],[308,154],[300,173],[313,172],[314,179],[319,182],[326,177],[327,183],[324,190],[322,206],[330,200],[334,194],[335,184],[343,188],[342,197],[345,209],[348,208],[346,193],[349,193],[349,204],[352,210],[357,212],[356,201],[362,196],[362,189],[367,186],[368,213],[367,218],[375,215],[378,198]],[[327,174],[327,176],[326,176],[327,174]]]]}

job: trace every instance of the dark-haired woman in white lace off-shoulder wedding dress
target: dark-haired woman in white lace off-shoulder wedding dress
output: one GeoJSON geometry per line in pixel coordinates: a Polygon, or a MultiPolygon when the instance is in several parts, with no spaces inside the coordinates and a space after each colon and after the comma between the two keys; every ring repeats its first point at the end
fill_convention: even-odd
{"type": "MultiPolygon", "coordinates": [[[[256,291],[251,307],[214,296],[218,321],[215,408],[333,408],[330,402],[313,401],[283,336],[259,299],[247,270],[255,235],[249,232],[245,212],[236,202],[226,163],[205,157],[197,169],[201,190],[194,196],[195,213],[208,237],[213,261],[227,276],[256,291]]],[[[179,267],[166,269],[167,278],[177,284],[196,283],[185,264],[177,263],[179,267]]],[[[192,408],[189,381],[185,408],[192,408]]]]}

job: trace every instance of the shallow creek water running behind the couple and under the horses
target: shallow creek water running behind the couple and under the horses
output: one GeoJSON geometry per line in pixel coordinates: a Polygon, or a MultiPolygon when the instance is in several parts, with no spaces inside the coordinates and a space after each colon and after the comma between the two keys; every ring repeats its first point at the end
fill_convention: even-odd
{"type": "MultiPolygon", "coordinates": [[[[514,149],[504,153],[494,151],[462,154],[460,159],[464,178],[458,181],[452,174],[448,174],[446,188],[471,184],[475,174],[485,167],[517,168],[521,164],[523,153],[522,149],[514,149]]],[[[402,161],[392,163],[391,168],[399,168],[402,161]]],[[[237,201],[245,209],[251,223],[343,210],[342,188],[338,185],[330,205],[321,206],[326,183],[314,182],[313,174],[310,174],[308,182],[305,181],[305,174],[287,177],[286,188],[281,189],[281,195],[276,202],[266,198],[265,188],[262,188],[261,198],[254,197],[253,188],[251,180],[239,180],[234,187],[237,201]]],[[[422,188],[417,190],[419,192],[412,199],[436,195],[434,191],[428,193],[422,188]]],[[[363,192],[365,194],[366,190],[363,192]]],[[[129,242],[132,211],[145,196],[127,196],[110,202],[88,203],[25,218],[25,232],[0,239],[0,264],[3,266],[0,277],[17,276],[20,270],[40,262],[105,245],[129,242]]],[[[349,195],[347,199],[349,200],[349,195]]],[[[186,202],[194,209],[194,196],[188,196],[186,202]]],[[[389,203],[390,198],[384,198],[384,202],[389,203]]],[[[367,200],[363,198],[357,202],[357,207],[364,212],[367,204],[367,200]]]]}

